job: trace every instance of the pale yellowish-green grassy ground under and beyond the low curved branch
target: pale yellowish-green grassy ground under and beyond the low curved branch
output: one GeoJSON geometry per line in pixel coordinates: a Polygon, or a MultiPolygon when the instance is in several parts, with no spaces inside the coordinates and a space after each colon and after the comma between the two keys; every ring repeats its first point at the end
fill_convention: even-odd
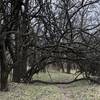
{"type": "MultiPolygon", "coordinates": [[[[33,79],[44,81],[70,81],[73,74],[39,73],[33,79]],[[50,78],[50,75],[52,79],[50,78]]],[[[68,85],[18,84],[9,82],[9,91],[0,92],[0,100],[100,100],[100,85],[79,81],[68,85]]]]}

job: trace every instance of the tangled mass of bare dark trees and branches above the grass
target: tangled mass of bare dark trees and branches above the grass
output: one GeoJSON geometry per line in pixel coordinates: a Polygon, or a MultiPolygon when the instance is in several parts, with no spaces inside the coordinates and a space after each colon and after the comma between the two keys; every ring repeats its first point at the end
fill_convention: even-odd
{"type": "Polygon", "coordinates": [[[1,90],[11,70],[13,81],[26,82],[51,63],[76,63],[86,76],[100,75],[99,67],[91,67],[100,61],[97,8],[99,0],[1,0],[1,90]]]}

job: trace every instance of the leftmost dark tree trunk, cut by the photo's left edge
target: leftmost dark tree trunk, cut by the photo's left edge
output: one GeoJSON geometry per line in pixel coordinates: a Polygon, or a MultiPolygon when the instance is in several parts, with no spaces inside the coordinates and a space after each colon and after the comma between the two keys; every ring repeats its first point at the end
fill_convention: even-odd
{"type": "Polygon", "coordinates": [[[0,43],[0,89],[1,91],[8,90],[8,67],[6,64],[6,56],[5,56],[5,44],[4,42],[0,43]]]}

